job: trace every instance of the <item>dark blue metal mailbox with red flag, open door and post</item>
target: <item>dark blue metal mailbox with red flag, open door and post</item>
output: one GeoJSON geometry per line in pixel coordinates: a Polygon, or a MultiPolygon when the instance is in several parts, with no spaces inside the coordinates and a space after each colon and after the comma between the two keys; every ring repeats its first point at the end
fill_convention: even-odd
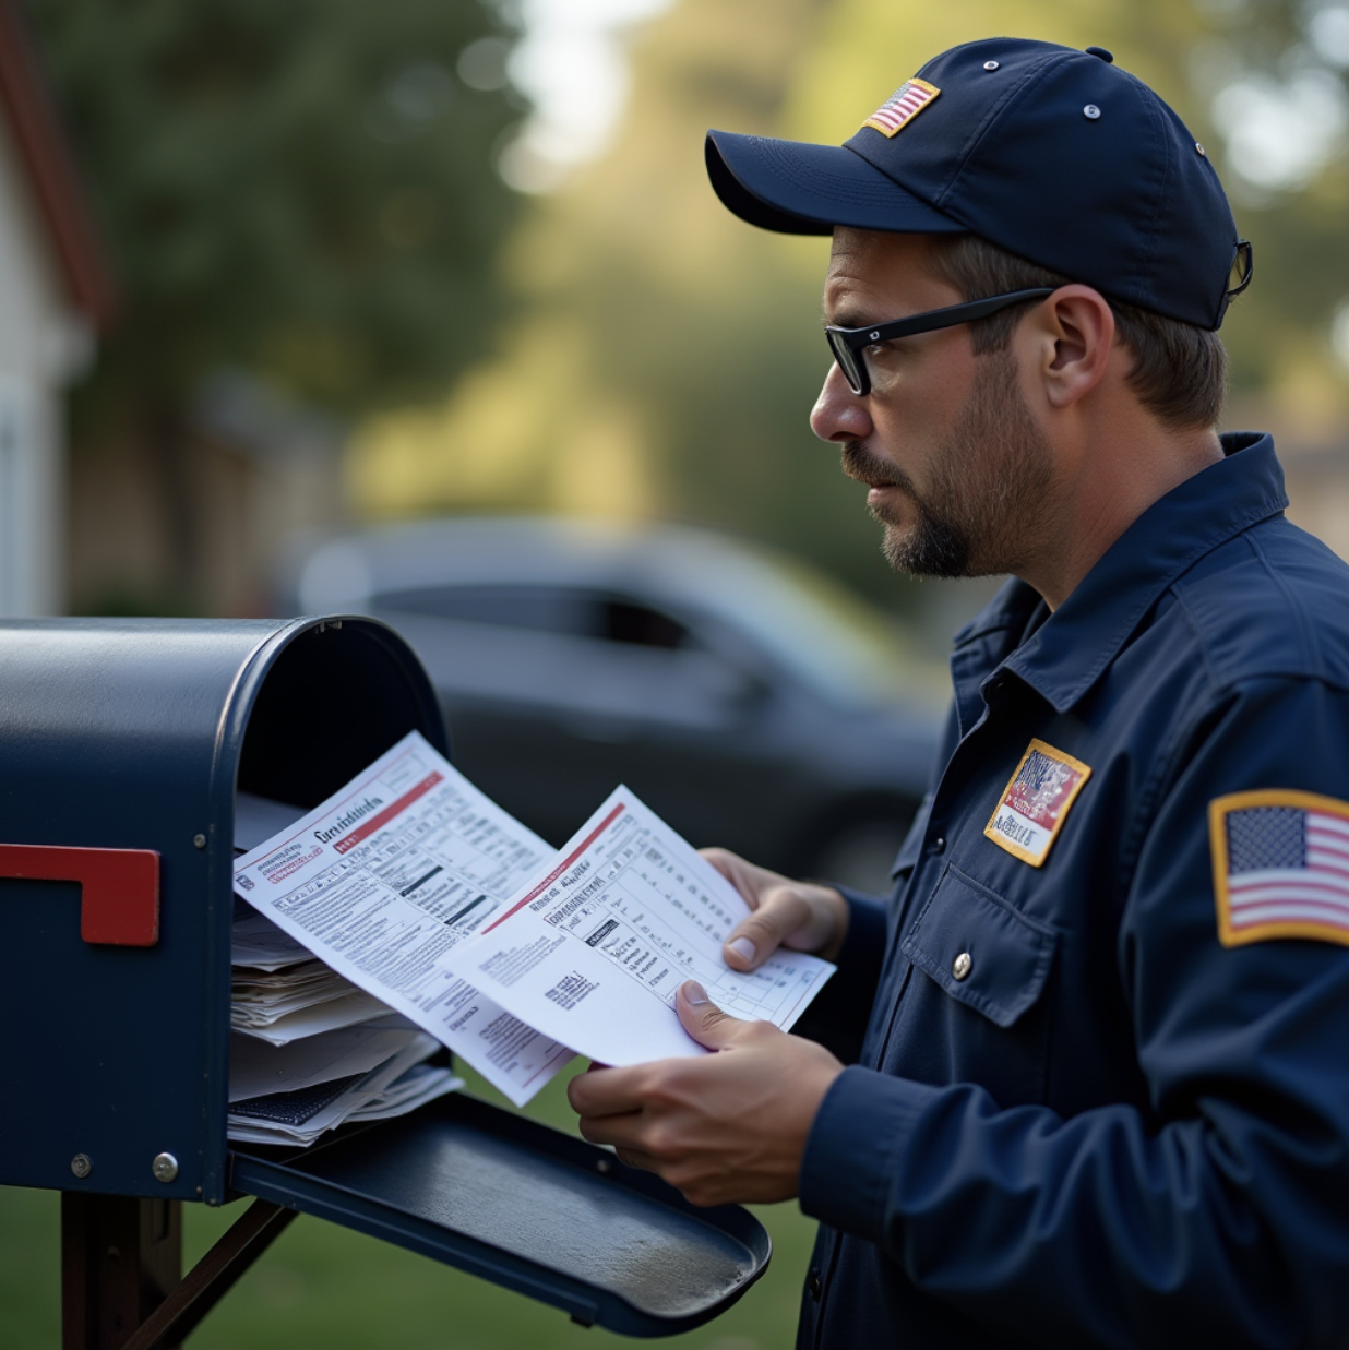
{"type": "Polygon", "coordinates": [[[767,1265],[744,1211],[460,1095],[304,1150],[228,1142],[235,794],[308,810],[411,730],[448,753],[374,620],[0,622],[0,1184],[63,1192],[68,1347],[176,1345],[294,1212],[632,1335],[767,1265]],[[242,1196],[180,1284],[178,1203],[242,1196]],[[109,1233],[139,1253],[120,1293],[109,1233]]]}

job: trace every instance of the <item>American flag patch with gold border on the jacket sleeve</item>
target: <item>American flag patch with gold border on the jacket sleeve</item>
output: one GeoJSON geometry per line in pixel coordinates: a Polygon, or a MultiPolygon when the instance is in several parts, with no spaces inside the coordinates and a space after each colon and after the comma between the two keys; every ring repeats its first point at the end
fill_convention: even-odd
{"type": "Polygon", "coordinates": [[[1218,938],[1349,946],[1349,802],[1268,788],[1209,803],[1218,938]]]}

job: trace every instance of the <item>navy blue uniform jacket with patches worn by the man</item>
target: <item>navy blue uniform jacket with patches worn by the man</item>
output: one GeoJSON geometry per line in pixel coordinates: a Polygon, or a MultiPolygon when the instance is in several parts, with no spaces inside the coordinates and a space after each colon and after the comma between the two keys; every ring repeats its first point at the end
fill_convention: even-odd
{"type": "Polygon", "coordinates": [[[1349,1343],[1349,568],[1269,437],[1223,446],[1053,614],[1011,582],[956,637],[812,1033],[866,1026],[801,1173],[802,1346],[1349,1343]],[[998,815],[1032,741],[1038,836],[998,815]]]}

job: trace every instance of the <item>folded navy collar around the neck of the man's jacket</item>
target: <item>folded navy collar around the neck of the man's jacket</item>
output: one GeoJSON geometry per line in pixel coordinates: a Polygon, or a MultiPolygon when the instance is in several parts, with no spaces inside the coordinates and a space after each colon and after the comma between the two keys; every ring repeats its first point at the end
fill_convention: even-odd
{"type": "Polygon", "coordinates": [[[1273,439],[1229,432],[1225,458],[1153,502],[1106,549],[1072,594],[1025,640],[1040,595],[1010,580],[956,634],[955,656],[986,644],[1002,667],[1067,711],[1118,656],[1159,597],[1200,558],[1287,505],[1273,439]],[[1020,643],[1020,645],[1017,645],[1020,643]]]}

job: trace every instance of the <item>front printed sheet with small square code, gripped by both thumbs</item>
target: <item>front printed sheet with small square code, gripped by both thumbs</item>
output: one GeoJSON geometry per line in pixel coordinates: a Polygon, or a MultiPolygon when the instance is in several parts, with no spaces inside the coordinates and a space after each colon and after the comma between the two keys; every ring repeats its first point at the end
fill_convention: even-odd
{"type": "Polygon", "coordinates": [[[721,956],[740,892],[620,787],[500,915],[455,953],[502,1007],[601,1064],[706,1053],[674,1011],[694,979],[724,1013],[787,1030],[833,973],[779,949],[749,975],[721,956]]]}

